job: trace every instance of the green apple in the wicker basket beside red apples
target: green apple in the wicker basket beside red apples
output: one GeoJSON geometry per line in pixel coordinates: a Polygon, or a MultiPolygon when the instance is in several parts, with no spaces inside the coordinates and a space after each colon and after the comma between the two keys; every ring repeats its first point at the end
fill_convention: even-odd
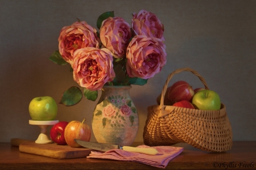
{"type": "Polygon", "coordinates": [[[220,96],[212,90],[201,90],[192,99],[192,104],[200,110],[219,110],[221,107],[220,96]]]}

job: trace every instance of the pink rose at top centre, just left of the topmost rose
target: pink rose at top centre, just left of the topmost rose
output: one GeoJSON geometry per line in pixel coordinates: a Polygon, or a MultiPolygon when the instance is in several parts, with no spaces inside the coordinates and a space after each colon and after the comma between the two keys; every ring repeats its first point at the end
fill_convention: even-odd
{"type": "Polygon", "coordinates": [[[102,22],[100,39],[115,58],[122,58],[131,38],[130,25],[122,18],[109,17],[102,22]]]}

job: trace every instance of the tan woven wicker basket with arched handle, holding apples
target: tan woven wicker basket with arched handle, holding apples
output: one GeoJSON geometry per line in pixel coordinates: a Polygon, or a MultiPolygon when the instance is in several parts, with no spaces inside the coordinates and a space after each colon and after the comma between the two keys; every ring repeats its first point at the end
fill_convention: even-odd
{"type": "Polygon", "coordinates": [[[195,70],[177,69],[168,75],[162,90],[160,105],[148,107],[144,126],[144,144],[148,146],[168,146],[185,142],[193,147],[209,152],[228,151],[232,147],[232,129],[224,104],[218,111],[204,111],[164,105],[168,83],[181,71],[191,71],[209,89],[204,78],[195,70]]]}

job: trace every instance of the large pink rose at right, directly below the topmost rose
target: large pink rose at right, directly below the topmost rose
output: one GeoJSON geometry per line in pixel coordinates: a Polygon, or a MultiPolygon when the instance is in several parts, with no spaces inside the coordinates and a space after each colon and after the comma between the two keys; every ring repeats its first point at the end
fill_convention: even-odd
{"type": "Polygon", "coordinates": [[[127,47],[126,70],[130,77],[152,78],[166,64],[166,45],[162,40],[135,36],[127,47]]]}

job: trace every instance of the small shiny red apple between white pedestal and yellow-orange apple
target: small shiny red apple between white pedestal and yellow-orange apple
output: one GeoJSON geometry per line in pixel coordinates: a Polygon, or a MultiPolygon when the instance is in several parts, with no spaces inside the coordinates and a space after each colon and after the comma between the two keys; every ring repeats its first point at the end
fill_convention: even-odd
{"type": "Polygon", "coordinates": [[[50,137],[53,142],[57,143],[58,145],[67,145],[64,137],[64,131],[67,125],[68,122],[61,121],[52,126],[50,137]]]}

